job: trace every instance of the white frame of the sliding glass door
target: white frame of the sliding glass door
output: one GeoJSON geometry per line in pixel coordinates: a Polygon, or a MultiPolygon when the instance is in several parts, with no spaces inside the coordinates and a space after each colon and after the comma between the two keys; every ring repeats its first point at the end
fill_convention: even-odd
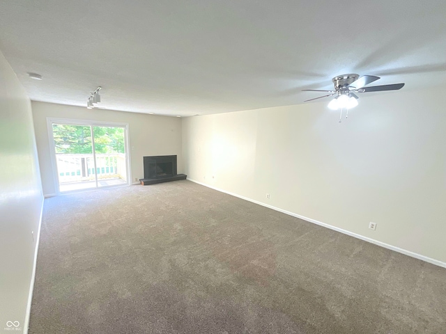
{"type": "MultiPolygon", "coordinates": [[[[56,196],[63,195],[66,193],[79,193],[82,191],[92,191],[92,190],[98,190],[98,189],[108,189],[108,188],[114,188],[116,186],[130,186],[132,184],[132,173],[131,168],[132,165],[130,163],[130,135],[129,135],[129,127],[128,123],[124,122],[105,122],[105,121],[99,121],[99,120],[78,120],[78,119],[72,119],[72,118],[54,118],[54,117],[47,117],[47,131],[48,131],[48,141],[49,141],[49,156],[51,157],[51,166],[52,166],[52,175],[53,175],[53,182],[54,182],[54,191],[56,191],[56,196]],[[56,161],[56,148],[54,143],[54,135],[53,135],[53,124],[63,124],[63,125],[82,125],[82,126],[89,126],[91,127],[91,145],[94,145],[94,138],[93,138],[93,127],[123,127],[124,128],[124,145],[125,145],[125,167],[127,168],[126,176],[127,176],[127,184],[123,185],[114,185],[114,186],[100,186],[98,187],[98,175],[96,175],[96,187],[91,189],[79,189],[79,190],[73,190],[73,191],[63,191],[61,192],[60,186],[59,186],[59,175],[57,170],[57,161],[56,161]]],[[[93,147],[93,156],[95,157],[95,150],[93,147]]],[[[94,159],[95,160],[95,159],[94,159]]],[[[94,164],[96,164],[96,161],[94,161],[94,164]]]]}

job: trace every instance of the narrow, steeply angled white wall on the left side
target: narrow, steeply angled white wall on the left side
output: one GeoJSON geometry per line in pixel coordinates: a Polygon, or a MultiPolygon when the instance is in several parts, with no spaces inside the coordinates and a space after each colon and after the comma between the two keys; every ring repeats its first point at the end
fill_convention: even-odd
{"type": "Polygon", "coordinates": [[[0,166],[0,332],[19,321],[23,333],[43,196],[31,103],[1,53],[0,166]]]}

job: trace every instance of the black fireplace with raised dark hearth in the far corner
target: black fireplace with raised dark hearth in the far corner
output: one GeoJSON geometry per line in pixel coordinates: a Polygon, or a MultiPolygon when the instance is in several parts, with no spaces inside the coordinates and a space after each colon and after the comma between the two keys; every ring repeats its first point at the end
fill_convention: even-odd
{"type": "Polygon", "coordinates": [[[144,179],[141,184],[157,184],[176,180],[185,180],[187,175],[176,173],[176,155],[157,155],[144,157],[144,179]]]}

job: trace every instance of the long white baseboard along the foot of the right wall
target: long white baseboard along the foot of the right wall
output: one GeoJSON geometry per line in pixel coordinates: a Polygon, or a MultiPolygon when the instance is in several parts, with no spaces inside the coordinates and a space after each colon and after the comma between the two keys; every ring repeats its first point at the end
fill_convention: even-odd
{"type": "Polygon", "coordinates": [[[220,188],[217,188],[215,186],[210,186],[209,184],[205,184],[203,182],[199,182],[197,180],[190,179],[189,177],[187,177],[187,180],[192,181],[192,182],[197,183],[197,184],[201,184],[202,186],[206,186],[206,187],[208,187],[210,189],[214,189],[214,190],[220,191],[222,193],[227,193],[228,195],[235,196],[235,197],[241,198],[243,200],[247,200],[249,202],[256,203],[256,204],[261,205],[263,207],[268,207],[269,209],[273,209],[275,211],[282,212],[284,214],[288,214],[290,216],[303,219],[304,221],[308,221],[309,223],[314,223],[316,225],[323,226],[324,228],[330,228],[330,230],[334,230],[334,231],[337,231],[337,232],[341,232],[341,233],[347,234],[347,235],[349,235],[351,237],[355,237],[357,239],[361,239],[361,240],[370,242],[371,244],[375,244],[375,245],[378,245],[378,246],[381,246],[381,247],[384,247],[384,248],[387,248],[387,249],[390,249],[390,250],[394,250],[395,252],[398,252],[398,253],[401,253],[401,254],[404,254],[404,255],[408,255],[410,257],[415,257],[418,260],[422,260],[424,262],[429,262],[431,264],[435,264],[438,267],[446,268],[446,263],[445,262],[441,262],[439,260],[432,259],[431,257],[426,257],[424,255],[420,255],[418,253],[411,252],[410,250],[406,250],[406,249],[403,249],[403,248],[392,246],[390,244],[385,244],[384,242],[381,242],[381,241],[378,241],[378,240],[375,240],[375,239],[371,239],[369,237],[364,237],[361,234],[356,234],[356,233],[350,232],[348,230],[343,230],[342,228],[337,228],[336,226],[332,226],[332,225],[329,225],[327,223],[322,223],[321,221],[316,221],[315,219],[308,218],[308,217],[305,217],[305,216],[301,216],[300,214],[295,214],[293,212],[289,212],[289,211],[286,211],[284,209],[280,209],[279,207],[273,207],[272,205],[268,205],[268,204],[265,204],[263,202],[259,202],[258,200],[252,200],[251,198],[247,198],[245,196],[240,196],[240,195],[238,195],[236,193],[231,193],[230,191],[226,191],[224,189],[220,189],[220,188]]]}

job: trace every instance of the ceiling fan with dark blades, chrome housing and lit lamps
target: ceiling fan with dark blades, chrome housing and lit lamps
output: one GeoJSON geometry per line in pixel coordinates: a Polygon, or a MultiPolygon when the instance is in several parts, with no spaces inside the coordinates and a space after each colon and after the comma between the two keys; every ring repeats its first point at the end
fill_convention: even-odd
{"type": "MultiPolygon", "coordinates": [[[[365,87],[368,84],[380,79],[380,77],[376,77],[374,75],[363,75],[360,77],[358,74],[343,74],[338,75],[332,79],[334,84],[334,90],[319,90],[319,89],[303,89],[303,91],[308,92],[325,92],[330,93],[328,95],[323,95],[320,97],[316,97],[314,99],[305,100],[304,102],[309,102],[313,100],[318,100],[323,97],[329,97],[333,95],[337,95],[333,100],[328,104],[328,108],[332,110],[341,109],[341,117],[342,117],[342,109],[347,109],[347,117],[348,117],[348,109],[352,109],[357,106],[357,97],[356,93],[369,93],[369,92],[382,92],[385,90],[399,90],[403,88],[404,84],[391,84],[391,85],[382,85],[382,86],[370,86],[365,87]]],[[[339,120],[339,122],[341,122],[339,120]]]]}

